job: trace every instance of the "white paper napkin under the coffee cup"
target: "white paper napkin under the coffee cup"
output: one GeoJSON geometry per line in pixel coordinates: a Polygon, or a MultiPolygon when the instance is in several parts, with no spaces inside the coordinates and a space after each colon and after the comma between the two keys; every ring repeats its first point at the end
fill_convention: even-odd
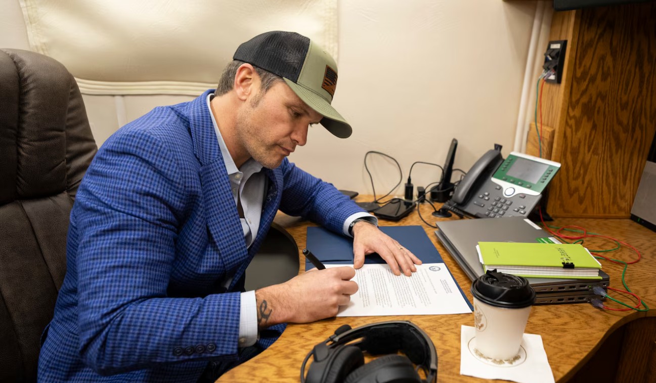
{"type": "Polygon", "coordinates": [[[491,361],[476,356],[474,342],[476,329],[462,326],[460,336],[460,373],[485,379],[504,379],[519,383],[554,383],[542,336],[523,334],[520,357],[514,361],[491,361]],[[502,363],[502,364],[499,364],[502,363]]]}

